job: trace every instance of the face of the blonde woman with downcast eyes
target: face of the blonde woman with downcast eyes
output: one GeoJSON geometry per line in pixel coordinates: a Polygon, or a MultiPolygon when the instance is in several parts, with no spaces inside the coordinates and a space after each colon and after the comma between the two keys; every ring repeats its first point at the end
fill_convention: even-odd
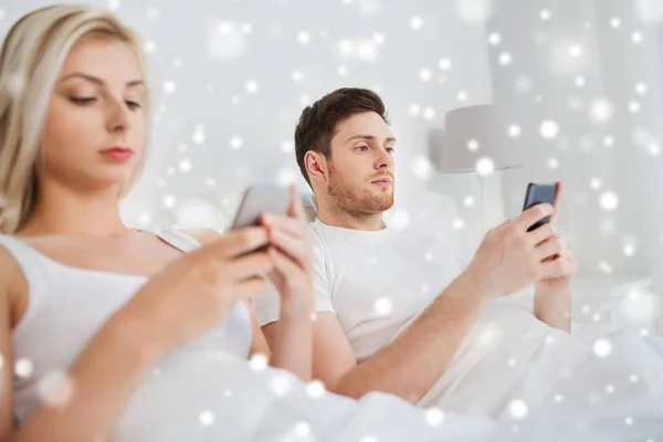
{"type": "Polygon", "coordinates": [[[145,155],[145,98],[128,44],[99,35],[80,40],[51,95],[40,179],[83,191],[127,182],[145,155]]]}

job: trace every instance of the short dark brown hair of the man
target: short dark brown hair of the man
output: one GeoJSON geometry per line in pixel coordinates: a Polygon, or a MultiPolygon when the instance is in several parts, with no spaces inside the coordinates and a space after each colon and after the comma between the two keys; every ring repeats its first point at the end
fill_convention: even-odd
{"type": "Polygon", "coordinates": [[[379,95],[357,87],[336,90],[302,112],[295,129],[295,156],[309,186],[311,180],[304,165],[306,152],[313,150],[323,154],[325,158],[332,158],[332,138],[336,134],[336,125],[365,112],[375,112],[389,124],[385,103],[379,95]]]}

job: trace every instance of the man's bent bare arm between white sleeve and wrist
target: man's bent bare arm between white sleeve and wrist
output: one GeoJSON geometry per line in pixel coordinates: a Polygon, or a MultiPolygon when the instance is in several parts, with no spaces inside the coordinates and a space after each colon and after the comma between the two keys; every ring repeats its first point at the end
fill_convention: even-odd
{"type": "Polygon", "coordinates": [[[319,313],[314,377],[339,394],[358,399],[378,390],[415,403],[446,369],[485,298],[477,280],[462,275],[393,343],[359,365],[336,315],[319,313]]]}

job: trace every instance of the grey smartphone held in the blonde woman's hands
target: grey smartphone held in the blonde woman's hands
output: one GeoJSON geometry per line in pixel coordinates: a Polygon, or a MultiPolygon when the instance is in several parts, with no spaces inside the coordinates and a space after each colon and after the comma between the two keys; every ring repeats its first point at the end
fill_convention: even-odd
{"type": "Polygon", "coordinates": [[[261,213],[285,214],[290,200],[291,192],[287,188],[270,185],[251,186],[244,191],[230,229],[257,225],[261,213]]]}

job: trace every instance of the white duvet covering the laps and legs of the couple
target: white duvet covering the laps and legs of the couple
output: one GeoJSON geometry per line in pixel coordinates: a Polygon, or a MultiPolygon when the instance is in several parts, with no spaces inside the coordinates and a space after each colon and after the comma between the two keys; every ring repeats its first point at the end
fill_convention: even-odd
{"type": "Polygon", "coordinates": [[[341,398],[220,352],[178,352],[147,377],[114,440],[663,441],[661,340],[523,327],[522,314],[488,308],[419,408],[383,393],[341,398]]]}

